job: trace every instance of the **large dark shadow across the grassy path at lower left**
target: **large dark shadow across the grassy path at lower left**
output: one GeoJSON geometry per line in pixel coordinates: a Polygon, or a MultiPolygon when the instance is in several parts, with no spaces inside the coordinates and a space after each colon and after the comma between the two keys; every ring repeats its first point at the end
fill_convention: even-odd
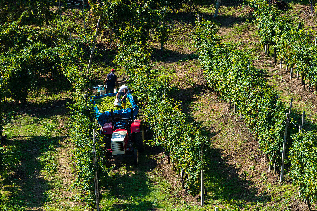
{"type": "Polygon", "coordinates": [[[2,180],[2,190],[9,193],[6,195],[7,200],[4,201],[6,204],[30,209],[42,207],[46,202],[52,200],[49,196],[52,184],[41,173],[44,168],[48,167],[49,160],[42,156],[61,146],[58,142],[64,138],[66,137],[24,136],[15,137],[9,142],[8,146],[13,147],[12,151],[23,152],[4,156],[5,167],[9,172],[2,180]]]}

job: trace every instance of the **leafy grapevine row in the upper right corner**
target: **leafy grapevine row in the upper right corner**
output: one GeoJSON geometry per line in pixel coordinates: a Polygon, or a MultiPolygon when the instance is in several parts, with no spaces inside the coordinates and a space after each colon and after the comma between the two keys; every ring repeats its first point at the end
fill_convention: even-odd
{"type": "Polygon", "coordinates": [[[309,36],[306,37],[303,26],[293,23],[289,15],[268,5],[266,1],[245,0],[245,3],[254,9],[261,44],[276,48],[276,53],[287,68],[296,65],[304,87],[307,80],[310,86],[317,88],[317,59],[313,56],[317,53],[317,48],[309,36]]]}

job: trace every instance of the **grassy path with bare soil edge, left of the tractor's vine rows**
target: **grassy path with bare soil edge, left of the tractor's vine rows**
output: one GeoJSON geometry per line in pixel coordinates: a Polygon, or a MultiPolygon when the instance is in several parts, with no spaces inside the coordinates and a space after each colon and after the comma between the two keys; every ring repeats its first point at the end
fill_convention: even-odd
{"type": "Polygon", "coordinates": [[[3,201],[15,210],[69,210],[71,201],[71,144],[67,116],[61,109],[48,113],[8,115],[4,133],[9,153],[2,176],[3,201]],[[40,149],[40,150],[37,150],[40,149]],[[18,151],[18,152],[16,152],[18,151]],[[57,205],[58,204],[58,205],[57,205]]]}

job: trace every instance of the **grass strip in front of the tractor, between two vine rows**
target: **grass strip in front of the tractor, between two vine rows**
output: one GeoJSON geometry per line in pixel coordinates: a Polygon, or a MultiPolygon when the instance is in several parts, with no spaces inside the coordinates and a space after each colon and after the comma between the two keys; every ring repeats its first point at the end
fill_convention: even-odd
{"type": "Polygon", "coordinates": [[[115,210],[197,210],[196,206],[183,202],[177,190],[171,189],[169,180],[155,168],[150,153],[141,154],[138,166],[128,162],[119,166],[109,181],[109,187],[100,202],[102,211],[115,210]]]}

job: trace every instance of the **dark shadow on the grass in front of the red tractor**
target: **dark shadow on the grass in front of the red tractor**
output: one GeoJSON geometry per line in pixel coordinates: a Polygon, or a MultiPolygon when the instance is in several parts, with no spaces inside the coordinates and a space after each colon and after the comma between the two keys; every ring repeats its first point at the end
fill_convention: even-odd
{"type": "Polygon", "coordinates": [[[160,152],[159,148],[152,147],[139,154],[138,165],[133,165],[133,160],[126,160],[126,165],[118,166],[121,168],[111,177],[109,186],[106,187],[107,193],[104,195],[106,199],[115,198],[115,200],[107,205],[101,202],[103,205],[101,210],[146,211],[159,208],[158,203],[151,199],[154,186],[148,173],[157,166],[157,161],[150,156],[155,156],[160,152]]]}

